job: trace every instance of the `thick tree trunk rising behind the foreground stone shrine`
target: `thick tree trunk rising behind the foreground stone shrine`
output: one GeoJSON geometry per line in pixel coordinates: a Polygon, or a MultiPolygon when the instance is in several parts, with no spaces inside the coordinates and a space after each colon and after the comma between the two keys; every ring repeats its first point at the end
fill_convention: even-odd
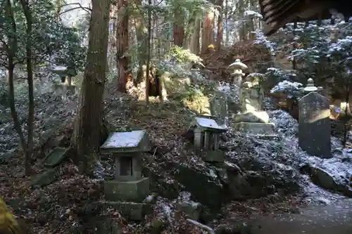
{"type": "Polygon", "coordinates": [[[103,119],[103,91],[108,53],[108,22],[111,0],[92,0],[87,63],[84,69],[80,105],[75,122],[73,159],[87,173],[99,160],[103,119]]]}

